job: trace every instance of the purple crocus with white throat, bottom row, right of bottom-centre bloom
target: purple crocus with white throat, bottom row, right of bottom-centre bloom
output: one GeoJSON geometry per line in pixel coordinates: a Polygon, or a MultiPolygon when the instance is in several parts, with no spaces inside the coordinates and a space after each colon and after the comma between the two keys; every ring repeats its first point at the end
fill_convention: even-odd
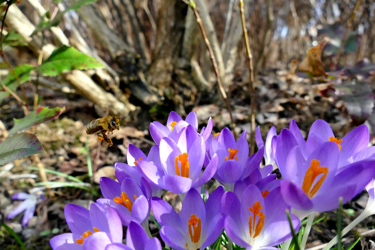
{"type": "MultiPolygon", "coordinates": [[[[234,243],[246,249],[276,250],[272,246],[292,237],[285,212],[288,206],[280,199],[279,187],[266,194],[249,185],[239,196],[226,191],[222,197],[225,232],[234,243]]],[[[292,214],[291,221],[297,231],[299,218],[292,214]]]]}

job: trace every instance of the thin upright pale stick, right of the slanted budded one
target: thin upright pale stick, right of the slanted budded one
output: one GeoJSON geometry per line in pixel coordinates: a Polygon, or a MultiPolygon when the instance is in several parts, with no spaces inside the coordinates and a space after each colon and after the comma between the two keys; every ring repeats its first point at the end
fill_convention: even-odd
{"type": "Polygon", "coordinates": [[[250,74],[249,88],[250,88],[250,112],[251,112],[251,132],[250,132],[250,145],[251,145],[250,152],[251,153],[250,154],[253,154],[255,151],[255,144],[254,144],[254,131],[255,131],[254,66],[253,66],[253,56],[250,50],[248,30],[246,29],[245,11],[243,10],[243,0],[240,0],[239,5],[240,5],[241,20],[242,20],[243,39],[245,40],[246,53],[248,54],[248,57],[249,57],[249,74],[250,74]]]}

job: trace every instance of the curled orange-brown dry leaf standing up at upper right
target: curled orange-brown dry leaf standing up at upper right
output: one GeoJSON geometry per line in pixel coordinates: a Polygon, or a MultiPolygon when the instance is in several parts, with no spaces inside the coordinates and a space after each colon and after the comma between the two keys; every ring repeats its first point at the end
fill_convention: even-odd
{"type": "Polygon", "coordinates": [[[328,75],[324,71],[321,59],[321,53],[326,43],[326,41],[320,41],[317,46],[309,48],[305,59],[298,65],[298,69],[305,71],[309,77],[327,77],[328,75]]]}

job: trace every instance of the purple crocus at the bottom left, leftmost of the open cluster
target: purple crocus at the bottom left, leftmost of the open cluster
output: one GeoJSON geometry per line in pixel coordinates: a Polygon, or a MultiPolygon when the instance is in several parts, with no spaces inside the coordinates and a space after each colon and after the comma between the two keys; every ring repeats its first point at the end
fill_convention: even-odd
{"type": "Polygon", "coordinates": [[[71,233],[63,233],[49,240],[54,250],[105,249],[91,248],[90,238],[99,237],[103,242],[121,243],[122,225],[116,211],[109,206],[92,203],[90,211],[82,206],[68,204],[64,209],[66,223],[71,233]],[[96,233],[99,233],[96,235],[96,233]]]}

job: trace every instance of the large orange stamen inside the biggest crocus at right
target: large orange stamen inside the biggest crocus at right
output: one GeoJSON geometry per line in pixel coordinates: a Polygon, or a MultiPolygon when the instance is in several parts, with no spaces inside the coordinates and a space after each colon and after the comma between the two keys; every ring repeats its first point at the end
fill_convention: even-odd
{"type": "Polygon", "coordinates": [[[311,161],[311,165],[309,169],[306,171],[305,178],[303,179],[302,189],[305,191],[309,198],[312,198],[315,193],[319,190],[320,186],[322,185],[324,179],[326,179],[328,173],[328,167],[321,167],[320,161],[314,159],[311,161]],[[313,188],[312,184],[314,183],[315,179],[318,175],[323,174],[317,183],[314,185],[313,188]]]}

